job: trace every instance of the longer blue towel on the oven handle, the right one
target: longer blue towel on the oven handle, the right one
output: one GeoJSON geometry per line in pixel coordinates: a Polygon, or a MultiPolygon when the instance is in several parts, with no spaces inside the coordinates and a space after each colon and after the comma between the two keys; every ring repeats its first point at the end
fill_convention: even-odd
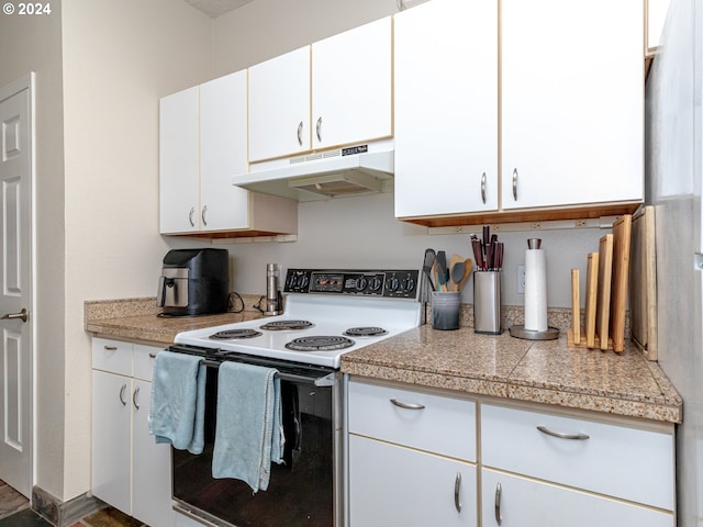
{"type": "Polygon", "coordinates": [[[280,379],[274,368],[223,362],[217,373],[213,478],[268,489],[271,462],[283,462],[280,379]]]}

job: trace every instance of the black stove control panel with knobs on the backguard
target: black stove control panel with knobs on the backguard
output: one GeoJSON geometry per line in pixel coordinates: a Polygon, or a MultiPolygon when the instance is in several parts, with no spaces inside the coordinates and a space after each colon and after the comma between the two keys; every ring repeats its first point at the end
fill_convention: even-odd
{"type": "Polygon", "coordinates": [[[287,293],[353,294],[387,299],[417,299],[419,270],[335,271],[289,269],[287,293]]]}

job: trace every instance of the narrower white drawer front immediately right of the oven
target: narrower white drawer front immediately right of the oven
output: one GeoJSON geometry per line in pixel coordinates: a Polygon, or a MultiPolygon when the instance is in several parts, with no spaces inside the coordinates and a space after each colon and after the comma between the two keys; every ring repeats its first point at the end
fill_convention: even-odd
{"type": "Polygon", "coordinates": [[[476,403],[417,390],[349,382],[349,431],[476,461],[476,403]]]}

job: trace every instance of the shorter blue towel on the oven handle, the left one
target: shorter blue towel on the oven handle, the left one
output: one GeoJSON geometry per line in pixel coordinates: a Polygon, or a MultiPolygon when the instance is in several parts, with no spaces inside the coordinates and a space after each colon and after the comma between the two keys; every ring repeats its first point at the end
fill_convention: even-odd
{"type": "Polygon", "coordinates": [[[204,447],[205,366],[192,355],[156,356],[149,406],[149,434],[156,442],[202,453],[204,447]]]}

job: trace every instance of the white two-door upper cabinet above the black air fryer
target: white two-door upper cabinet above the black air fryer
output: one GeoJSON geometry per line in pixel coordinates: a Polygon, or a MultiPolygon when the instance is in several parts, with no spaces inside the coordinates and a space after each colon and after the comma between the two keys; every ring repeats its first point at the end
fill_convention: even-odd
{"type": "Polygon", "coordinates": [[[231,183],[247,169],[246,71],[160,100],[160,232],[294,234],[297,203],[231,183]]]}

